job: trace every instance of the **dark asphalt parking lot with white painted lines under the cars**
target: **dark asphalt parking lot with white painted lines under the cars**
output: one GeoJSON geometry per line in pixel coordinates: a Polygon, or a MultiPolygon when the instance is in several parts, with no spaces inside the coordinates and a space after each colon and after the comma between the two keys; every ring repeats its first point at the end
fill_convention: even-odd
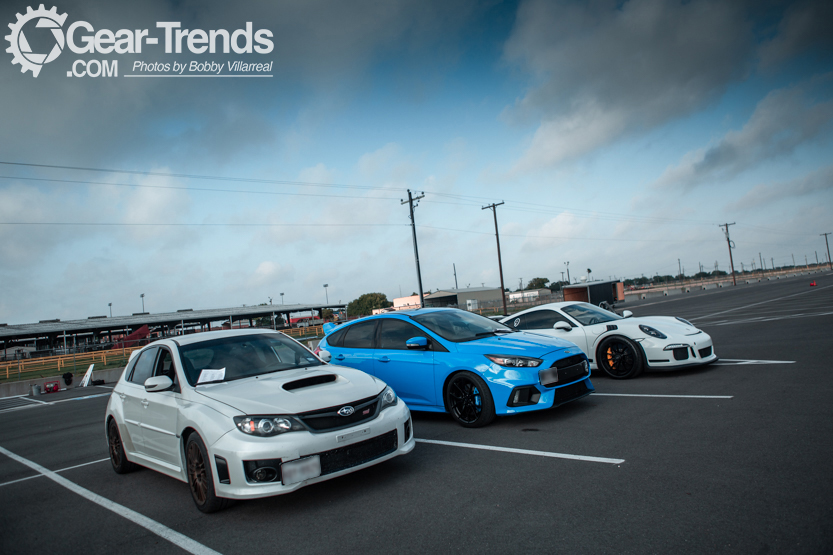
{"type": "Polygon", "coordinates": [[[212,515],[113,472],[107,389],[0,403],[0,552],[833,551],[833,274],[622,308],[688,318],[721,361],[597,373],[595,395],[482,429],[414,413],[411,454],[212,515]]]}

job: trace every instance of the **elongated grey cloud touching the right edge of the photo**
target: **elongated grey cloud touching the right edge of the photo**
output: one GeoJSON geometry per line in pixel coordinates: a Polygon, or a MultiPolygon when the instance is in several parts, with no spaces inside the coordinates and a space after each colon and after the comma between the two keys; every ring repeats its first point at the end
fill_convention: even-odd
{"type": "Polygon", "coordinates": [[[654,187],[690,189],[728,179],[764,161],[788,156],[829,128],[833,100],[815,102],[804,86],[770,92],[749,121],[714,146],[687,153],[656,180],[654,187]]]}

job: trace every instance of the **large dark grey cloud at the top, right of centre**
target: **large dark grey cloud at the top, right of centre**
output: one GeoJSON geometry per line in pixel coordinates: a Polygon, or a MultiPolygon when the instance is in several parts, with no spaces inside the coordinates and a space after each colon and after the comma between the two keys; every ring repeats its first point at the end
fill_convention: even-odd
{"type": "Polygon", "coordinates": [[[540,124],[515,170],[553,166],[702,108],[747,71],[752,49],[738,3],[525,2],[504,59],[533,84],[504,118],[540,124]]]}

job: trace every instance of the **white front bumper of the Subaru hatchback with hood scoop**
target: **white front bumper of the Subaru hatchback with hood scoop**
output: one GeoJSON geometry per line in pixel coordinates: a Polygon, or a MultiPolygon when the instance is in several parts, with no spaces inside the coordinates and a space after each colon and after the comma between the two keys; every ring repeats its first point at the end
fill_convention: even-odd
{"type": "Polygon", "coordinates": [[[410,418],[411,413],[407,405],[400,400],[395,406],[383,410],[378,417],[370,422],[332,432],[316,434],[290,432],[275,437],[250,437],[238,430],[231,430],[208,448],[215,491],[219,497],[229,499],[270,497],[289,493],[310,484],[349,474],[398,455],[404,455],[411,452],[415,445],[410,418]],[[411,428],[407,438],[406,427],[411,428]],[[334,450],[378,438],[393,431],[396,432],[397,437],[397,445],[394,450],[362,464],[290,485],[284,485],[281,481],[249,482],[246,478],[244,461],[280,459],[281,463],[286,463],[310,455],[332,453],[334,450]],[[351,434],[354,435],[351,436],[351,434]],[[343,436],[349,437],[344,438],[343,436]],[[229,483],[227,484],[221,483],[218,478],[216,457],[222,457],[227,462],[229,476],[229,483]]]}

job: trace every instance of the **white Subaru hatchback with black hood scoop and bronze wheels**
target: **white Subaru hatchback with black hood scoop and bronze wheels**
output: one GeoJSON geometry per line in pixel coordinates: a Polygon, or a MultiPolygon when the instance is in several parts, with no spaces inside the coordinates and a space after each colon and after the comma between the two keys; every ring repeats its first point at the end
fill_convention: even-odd
{"type": "Polygon", "coordinates": [[[188,482],[197,508],[287,493],[414,448],[384,382],[269,330],[198,333],[134,353],[107,405],[113,469],[188,482]]]}

